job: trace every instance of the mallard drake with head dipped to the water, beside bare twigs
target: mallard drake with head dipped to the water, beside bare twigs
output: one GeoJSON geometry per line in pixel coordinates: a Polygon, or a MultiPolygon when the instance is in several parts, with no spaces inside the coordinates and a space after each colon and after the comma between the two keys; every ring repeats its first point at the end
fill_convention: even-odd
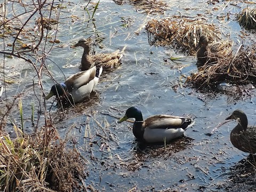
{"type": "Polygon", "coordinates": [[[95,66],[89,70],[76,73],[67,78],[65,83],[53,85],[45,99],[49,99],[53,95],[57,97],[67,95],[70,101],[74,103],[80,102],[89,97],[93,87],[98,84],[101,73],[102,67],[96,69],[95,66]]]}

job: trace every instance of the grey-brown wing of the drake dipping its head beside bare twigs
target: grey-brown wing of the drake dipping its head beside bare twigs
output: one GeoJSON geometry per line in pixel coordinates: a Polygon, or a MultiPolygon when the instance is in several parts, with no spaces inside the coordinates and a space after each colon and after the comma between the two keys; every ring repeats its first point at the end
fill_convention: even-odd
{"type": "Polygon", "coordinates": [[[79,87],[86,85],[96,76],[96,67],[92,67],[89,70],[81,71],[66,79],[65,84],[69,92],[73,89],[79,89],[79,87]]]}

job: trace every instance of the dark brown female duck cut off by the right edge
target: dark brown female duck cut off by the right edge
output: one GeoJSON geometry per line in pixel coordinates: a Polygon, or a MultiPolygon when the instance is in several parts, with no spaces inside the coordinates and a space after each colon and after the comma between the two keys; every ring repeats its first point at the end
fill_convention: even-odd
{"type": "Polygon", "coordinates": [[[256,153],[256,127],[247,126],[248,120],[242,110],[235,110],[228,119],[236,119],[238,124],[230,133],[230,140],[233,146],[247,153],[256,153]]]}

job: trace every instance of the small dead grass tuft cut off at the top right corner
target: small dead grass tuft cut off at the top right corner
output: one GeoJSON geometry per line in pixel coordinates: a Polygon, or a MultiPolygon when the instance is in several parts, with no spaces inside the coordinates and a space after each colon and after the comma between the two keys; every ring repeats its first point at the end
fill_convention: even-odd
{"type": "Polygon", "coordinates": [[[256,9],[246,7],[238,14],[237,19],[245,29],[256,29],[256,9]]]}

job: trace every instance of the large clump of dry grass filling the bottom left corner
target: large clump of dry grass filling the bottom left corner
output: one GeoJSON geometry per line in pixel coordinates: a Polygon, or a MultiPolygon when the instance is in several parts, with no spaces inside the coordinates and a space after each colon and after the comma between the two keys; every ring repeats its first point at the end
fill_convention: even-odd
{"type": "Polygon", "coordinates": [[[1,191],[73,191],[85,186],[85,161],[65,149],[57,131],[42,129],[32,137],[0,138],[1,191]]]}

